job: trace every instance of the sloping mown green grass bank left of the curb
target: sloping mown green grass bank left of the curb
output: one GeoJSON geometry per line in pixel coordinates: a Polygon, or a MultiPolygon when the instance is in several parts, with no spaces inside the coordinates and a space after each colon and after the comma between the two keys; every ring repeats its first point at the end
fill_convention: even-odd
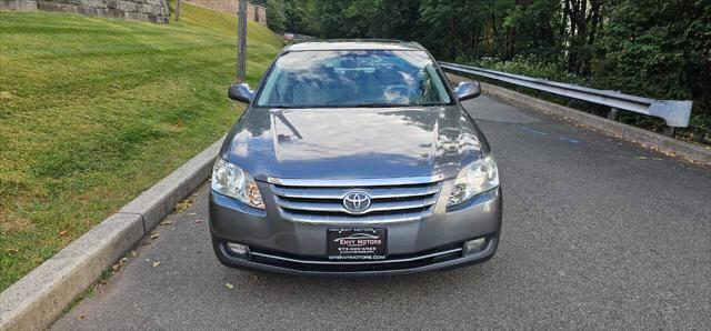
{"type": "MultiPolygon", "coordinates": [[[[237,20],[0,12],[0,290],[226,133],[237,20]]],[[[248,81],[282,40],[249,22],[248,81]]]]}

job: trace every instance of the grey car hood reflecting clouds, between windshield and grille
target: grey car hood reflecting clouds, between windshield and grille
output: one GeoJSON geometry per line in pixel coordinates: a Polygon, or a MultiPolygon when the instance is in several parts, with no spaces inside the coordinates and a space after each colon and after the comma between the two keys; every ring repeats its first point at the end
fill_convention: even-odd
{"type": "Polygon", "coordinates": [[[261,181],[451,178],[488,149],[460,106],[250,109],[221,157],[261,181]]]}

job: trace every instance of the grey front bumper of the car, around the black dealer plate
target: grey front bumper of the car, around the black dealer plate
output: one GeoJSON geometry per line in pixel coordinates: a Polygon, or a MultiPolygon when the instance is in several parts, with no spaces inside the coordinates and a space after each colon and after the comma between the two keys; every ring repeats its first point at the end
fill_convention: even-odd
{"type": "MultiPolygon", "coordinates": [[[[451,182],[444,184],[448,193],[451,182]]],[[[258,183],[264,198],[270,185],[258,183]]],[[[445,197],[449,197],[448,194],[445,197]]],[[[270,199],[266,210],[210,193],[210,229],[218,259],[226,265],[304,275],[390,275],[450,269],[489,260],[497,251],[502,219],[501,190],[435,211],[418,221],[394,223],[300,223],[281,218],[270,199]],[[388,258],[378,261],[333,261],[327,259],[327,230],[332,228],[384,228],[388,258]],[[485,238],[483,247],[464,253],[468,240],[485,238]],[[228,242],[249,247],[236,254],[228,242]]],[[[442,204],[440,207],[439,204],[442,204]]]]}

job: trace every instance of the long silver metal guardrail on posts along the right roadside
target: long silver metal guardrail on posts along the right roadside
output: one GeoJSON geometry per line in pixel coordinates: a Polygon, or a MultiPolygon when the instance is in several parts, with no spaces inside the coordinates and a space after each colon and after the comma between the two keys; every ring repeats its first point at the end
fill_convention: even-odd
{"type": "Polygon", "coordinates": [[[439,62],[444,70],[469,73],[501,82],[514,84],[517,87],[539,90],[571,99],[588,101],[591,103],[610,107],[608,118],[619,119],[619,111],[632,111],[651,117],[658,117],[667,122],[664,134],[673,137],[675,128],[689,127],[692,101],[679,100],[655,100],[642,97],[623,94],[618,91],[597,90],[578,87],[573,84],[560,83],[544,79],[530,78],[520,74],[512,74],[477,67],[462,66],[450,62],[439,62]]]}

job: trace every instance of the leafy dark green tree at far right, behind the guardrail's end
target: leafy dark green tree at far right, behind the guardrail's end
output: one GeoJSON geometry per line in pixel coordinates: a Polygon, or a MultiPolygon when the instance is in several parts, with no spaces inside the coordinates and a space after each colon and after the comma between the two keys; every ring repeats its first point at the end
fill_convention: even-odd
{"type": "Polygon", "coordinates": [[[692,138],[711,140],[711,2],[624,0],[604,29],[594,80],[652,98],[692,99],[692,138]]]}

